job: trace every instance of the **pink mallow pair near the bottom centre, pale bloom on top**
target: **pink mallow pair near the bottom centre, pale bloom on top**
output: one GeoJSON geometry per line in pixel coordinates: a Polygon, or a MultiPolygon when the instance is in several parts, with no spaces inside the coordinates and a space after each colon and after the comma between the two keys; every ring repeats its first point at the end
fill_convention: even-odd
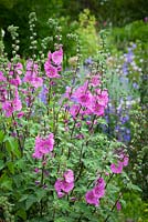
{"type": "Polygon", "coordinates": [[[63,198],[66,193],[72,191],[74,188],[74,172],[70,169],[65,171],[63,179],[57,179],[54,188],[59,198],[63,198]]]}

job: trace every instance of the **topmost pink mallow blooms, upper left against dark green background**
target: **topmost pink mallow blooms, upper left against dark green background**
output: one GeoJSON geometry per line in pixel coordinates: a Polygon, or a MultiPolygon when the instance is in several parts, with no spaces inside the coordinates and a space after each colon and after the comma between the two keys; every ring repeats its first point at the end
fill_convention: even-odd
{"type": "Polygon", "coordinates": [[[61,63],[63,60],[63,50],[60,50],[47,54],[47,60],[44,63],[44,70],[49,78],[60,78],[59,71],[62,70],[61,63]]]}

